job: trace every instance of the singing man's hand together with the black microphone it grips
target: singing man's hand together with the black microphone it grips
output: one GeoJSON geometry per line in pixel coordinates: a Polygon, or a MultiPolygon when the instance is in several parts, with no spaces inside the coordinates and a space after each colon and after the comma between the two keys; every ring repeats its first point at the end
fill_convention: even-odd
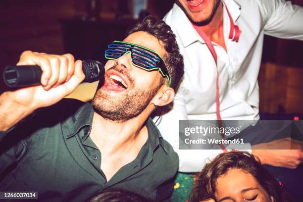
{"type": "Polygon", "coordinates": [[[33,110],[50,106],[72,93],[85,79],[98,81],[99,68],[100,75],[104,75],[104,67],[98,61],[75,61],[71,54],[24,51],[17,66],[8,66],[3,72],[5,83],[18,90],[4,94],[15,104],[33,110]]]}

